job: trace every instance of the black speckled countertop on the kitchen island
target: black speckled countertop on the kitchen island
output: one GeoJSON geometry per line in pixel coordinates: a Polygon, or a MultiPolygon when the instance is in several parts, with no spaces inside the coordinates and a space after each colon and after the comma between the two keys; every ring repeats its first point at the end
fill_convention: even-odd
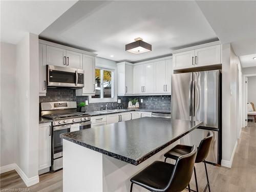
{"type": "Polygon", "coordinates": [[[104,155],[138,165],[193,131],[201,123],[143,117],[61,134],[60,137],[104,155]]]}

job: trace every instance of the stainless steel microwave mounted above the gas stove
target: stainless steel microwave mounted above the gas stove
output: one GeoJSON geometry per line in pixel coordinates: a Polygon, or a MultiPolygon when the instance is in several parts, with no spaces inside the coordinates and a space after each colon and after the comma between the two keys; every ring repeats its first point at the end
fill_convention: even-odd
{"type": "Polygon", "coordinates": [[[47,87],[67,87],[80,89],[84,87],[84,71],[59,66],[46,66],[47,87]]]}

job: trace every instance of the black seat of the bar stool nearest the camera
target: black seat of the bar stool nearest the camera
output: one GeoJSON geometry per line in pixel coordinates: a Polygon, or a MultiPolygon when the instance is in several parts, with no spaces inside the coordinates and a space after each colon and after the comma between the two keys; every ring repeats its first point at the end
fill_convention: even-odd
{"type": "Polygon", "coordinates": [[[170,174],[173,172],[174,165],[162,161],[155,161],[150,166],[143,169],[133,178],[131,182],[143,186],[148,190],[163,189],[169,182],[170,174]],[[159,174],[157,174],[159,173],[159,174]]]}

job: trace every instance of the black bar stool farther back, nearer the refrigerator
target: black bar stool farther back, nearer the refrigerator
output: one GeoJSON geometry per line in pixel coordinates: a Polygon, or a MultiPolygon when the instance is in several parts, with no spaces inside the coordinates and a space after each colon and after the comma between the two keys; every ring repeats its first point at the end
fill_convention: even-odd
{"type": "MultiPolygon", "coordinates": [[[[207,187],[210,192],[210,184],[209,184],[209,178],[208,178],[205,159],[208,156],[211,141],[212,141],[213,137],[214,137],[214,134],[211,131],[209,131],[209,133],[207,134],[207,137],[203,138],[203,140],[200,142],[200,144],[198,146],[197,158],[196,158],[196,162],[195,162],[195,163],[204,162],[206,179],[207,179],[207,184],[204,188],[204,192],[206,191],[207,187]]],[[[175,159],[175,160],[179,159],[180,156],[190,153],[191,148],[192,148],[192,146],[188,146],[188,145],[180,145],[180,144],[176,145],[174,148],[172,148],[170,151],[168,151],[167,153],[164,154],[164,157],[165,157],[164,162],[166,162],[167,158],[175,159]]],[[[197,173],[196,173],[195,166],[194,166],[194,174],[195,174],[196,187],[197,187],[196,191],[198,192],[197,173]]],[[[191,190],[195,191],[193,189],[191,189],[191,190]]]]}

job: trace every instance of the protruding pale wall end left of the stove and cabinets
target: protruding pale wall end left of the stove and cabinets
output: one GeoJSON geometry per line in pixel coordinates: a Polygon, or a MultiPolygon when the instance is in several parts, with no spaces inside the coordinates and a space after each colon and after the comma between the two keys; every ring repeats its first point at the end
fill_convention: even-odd
{"type": "Polygon", "coordinates": [[[16,50],[16,164],[33,178],[38,177],[38,35],[27,33],[16,50]]]}

